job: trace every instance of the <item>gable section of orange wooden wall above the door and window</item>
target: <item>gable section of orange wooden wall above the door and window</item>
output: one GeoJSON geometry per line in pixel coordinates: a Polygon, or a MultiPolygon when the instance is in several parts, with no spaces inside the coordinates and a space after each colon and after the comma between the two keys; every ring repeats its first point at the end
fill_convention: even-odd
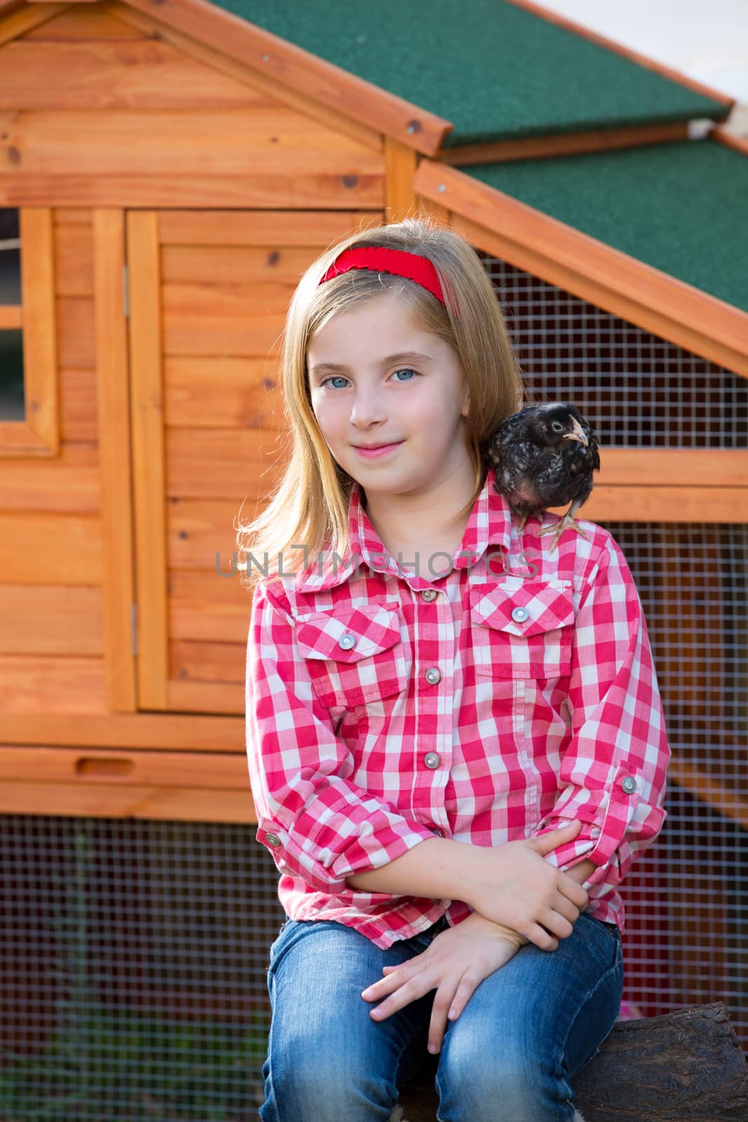
{"type": "Polygon", "coordinates": [[[0,48],[0,204],[382,205],[380,134],[124,4],[61,8],[7,17],[44,21],[0,48]]]}

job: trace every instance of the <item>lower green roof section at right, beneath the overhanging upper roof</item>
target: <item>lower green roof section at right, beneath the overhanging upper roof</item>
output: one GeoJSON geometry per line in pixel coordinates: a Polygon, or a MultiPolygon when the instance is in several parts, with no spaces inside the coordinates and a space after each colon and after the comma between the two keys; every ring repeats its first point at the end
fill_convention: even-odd
{"type": "Polygon", "coordinates": [[[707,138],[460,171],[748,312],[748,158],[733,148],[707,138]]]}

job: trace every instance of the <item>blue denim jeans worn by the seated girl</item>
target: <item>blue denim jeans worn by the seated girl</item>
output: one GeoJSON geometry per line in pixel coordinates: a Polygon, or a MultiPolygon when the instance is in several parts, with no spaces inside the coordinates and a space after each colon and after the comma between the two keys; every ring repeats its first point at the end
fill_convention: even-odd
{"type": "Polygon", "coordinates": [[[525,945],[446,1022],[432,1057],[435,990],[379,1023],[369,1015],[379,1002],[361,991],[445,927],[442,917],[381,950],[342,923],[286,917],[270,947],[262,1122],[388,1122],[398,1087],[428,1063],[437,1064],[438,1122],[572,1122],[569,1079],[618,1018],[620,931],[581,912],[556,950],[525,945]]]}

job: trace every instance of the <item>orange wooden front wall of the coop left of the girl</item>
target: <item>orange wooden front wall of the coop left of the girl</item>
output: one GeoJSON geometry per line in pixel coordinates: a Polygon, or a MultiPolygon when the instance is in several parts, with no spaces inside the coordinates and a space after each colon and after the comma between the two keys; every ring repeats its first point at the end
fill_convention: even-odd
{"type": "Polygon", "coordinates": [[[271,482],[298,277],[413,210],[416,154],[101,2],[0,20],[0,137],[49,413],[0,424],[0,811],[252,821],[216,554],[271,482]]]}

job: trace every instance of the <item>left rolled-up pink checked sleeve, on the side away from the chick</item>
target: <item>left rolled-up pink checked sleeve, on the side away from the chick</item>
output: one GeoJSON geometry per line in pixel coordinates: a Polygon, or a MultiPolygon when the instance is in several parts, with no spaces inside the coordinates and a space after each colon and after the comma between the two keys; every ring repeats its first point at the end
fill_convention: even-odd
{"type": "MultiPolygon", "coordinates": [[[[247,644],[247,757],[257,840],[279,872],[329,894],[432,838],[393,803],[352,783],[351,749],[312,688],[283,586],[253,594],[247,644]]],[[[370,893],[372,900],[393,893],[370,893]]]]}

